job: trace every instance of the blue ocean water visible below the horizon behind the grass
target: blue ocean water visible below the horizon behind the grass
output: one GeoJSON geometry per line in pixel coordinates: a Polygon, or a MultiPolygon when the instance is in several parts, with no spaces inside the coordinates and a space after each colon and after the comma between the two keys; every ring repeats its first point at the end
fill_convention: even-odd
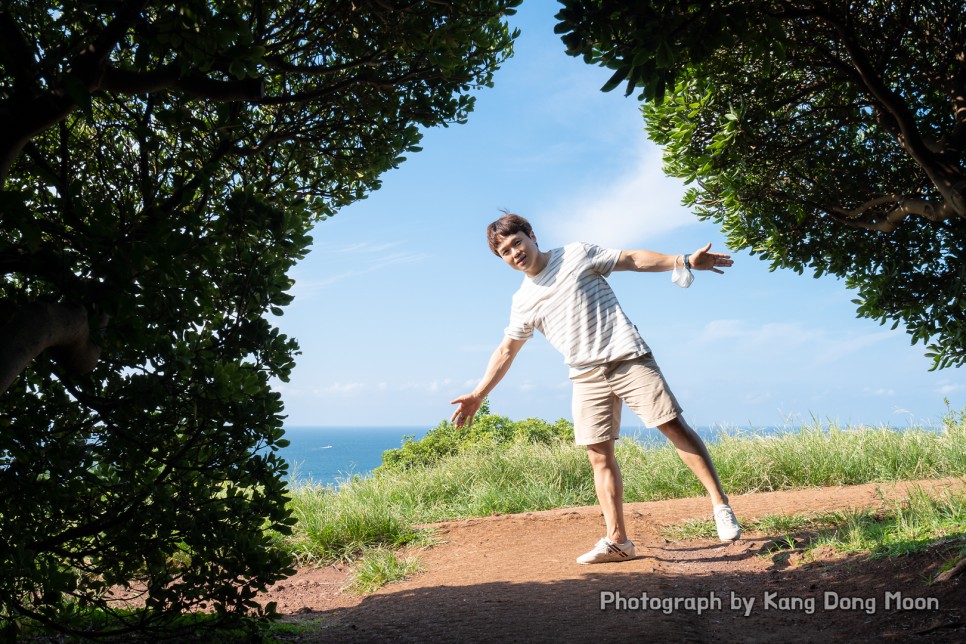
{"type": "MultiPolygon", "coordinates": [[[[300,484],[338,485],[351,476],[365,476],[382,463],[382,453],[402,445],[405,436],[419,440],[430,427],[286,427],[290,445],[279,450],[289,464],[289,480],[300,484]]],[[[739,430],[699,427],[698,434],[712,442],[723,431],[739,430]]],[[[740,430],[751,431],[751,430],[740,430]]],[[[774,434],[774,428],[754,430],[774,434]]],[[[623,427],[621,436],[643,443],[667,439],[656,429],[623,427]]]]}

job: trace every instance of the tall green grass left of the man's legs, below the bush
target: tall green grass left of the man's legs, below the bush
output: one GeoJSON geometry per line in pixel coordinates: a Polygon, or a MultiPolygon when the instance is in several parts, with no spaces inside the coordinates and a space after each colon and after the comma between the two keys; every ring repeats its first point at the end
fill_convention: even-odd
{"type": "Polygon", "coordinates": [[[299,561],[346,562],[369,548],[427,543],[422,523],[594,499],[587,457],[572,442],[479,443],[432,465],[356,476],[338,488],[296,486],[291,506],[298,522],[277,541],[299,561]]]}

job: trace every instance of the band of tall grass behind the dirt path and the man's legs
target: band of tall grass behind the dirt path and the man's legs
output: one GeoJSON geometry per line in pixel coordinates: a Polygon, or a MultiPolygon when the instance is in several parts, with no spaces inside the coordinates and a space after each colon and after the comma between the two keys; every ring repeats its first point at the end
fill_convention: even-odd
{"type": "MultiPolygon", "coordinates": [[[[709,445],[730,494],[966,474],[966,418],[940,432],[803,427],[709,445]]],[[[627,501],[704,494],[670,445],[620,441],[627,501]]],[[[348,560],[365,548],[417,543],[417,527],[448,519],[597,502],[584,450],[570,443],[480,445],[437,463],[295,486],[298,524],[283,541],[303,560],[348,560]]]]}

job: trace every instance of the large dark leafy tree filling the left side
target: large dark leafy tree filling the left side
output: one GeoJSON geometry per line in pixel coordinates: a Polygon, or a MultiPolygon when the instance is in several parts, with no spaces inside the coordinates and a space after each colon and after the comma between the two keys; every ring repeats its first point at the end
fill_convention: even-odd
{"type": "Polygon", "coordinates": [[[0,632],[258,613],[293,521],[267,316],[315,221],[466,119],[518,3],[3,4],[0,632]]]}

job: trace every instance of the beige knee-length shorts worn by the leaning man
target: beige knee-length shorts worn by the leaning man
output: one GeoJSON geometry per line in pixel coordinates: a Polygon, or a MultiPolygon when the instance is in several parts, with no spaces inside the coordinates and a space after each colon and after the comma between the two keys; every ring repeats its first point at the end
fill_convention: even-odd
{"type": "Polygon", "coordinates": [[[681,406],[654,356],[609,362],[572,378],[574,439],[593,445],[620,436],[621,401],[648,427],[677,418],[681,406]]]}

